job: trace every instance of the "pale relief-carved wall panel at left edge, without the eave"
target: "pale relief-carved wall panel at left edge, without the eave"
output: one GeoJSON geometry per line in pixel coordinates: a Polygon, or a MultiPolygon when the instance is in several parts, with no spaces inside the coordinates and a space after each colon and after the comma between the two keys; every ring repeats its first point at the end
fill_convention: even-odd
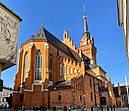
{"type": "Polygon", "coordinates": [[[0,59],[15,63],[19,21],[0,8],[0,59]]]}

